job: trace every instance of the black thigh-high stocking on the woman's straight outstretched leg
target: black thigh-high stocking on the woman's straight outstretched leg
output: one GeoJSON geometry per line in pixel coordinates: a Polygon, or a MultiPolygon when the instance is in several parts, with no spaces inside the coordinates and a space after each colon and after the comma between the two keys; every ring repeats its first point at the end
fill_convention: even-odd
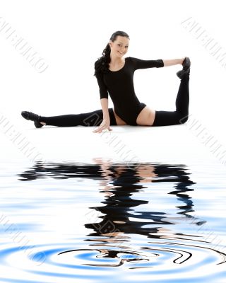
{"type": "MultiPolygon", "coordinates": [[[[112,108],[109,108],[110,125],[117,125],[112,108]]],[[[52,117],[40,116],[40,122],[58,127],[99,126],[103,119],[102,109],[80,114],[68,114],[52,117]]]]}

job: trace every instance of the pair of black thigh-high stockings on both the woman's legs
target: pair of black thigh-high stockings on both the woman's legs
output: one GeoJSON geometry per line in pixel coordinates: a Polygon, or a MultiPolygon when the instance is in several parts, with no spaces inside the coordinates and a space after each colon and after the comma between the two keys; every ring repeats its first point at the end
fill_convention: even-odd
{"type": "MultiPolygon", "coordinates": [[[[108,108],[110,125],[117,125],[113,108],[108,108]]],[[[189,115],[189,74],[185,75],[179,85],[175,111],[155,110],[155,120],[152,126],[179,125],[188,120],[189,115]]],[[[40,116],[40,122],[58,127],[99,126],[103,119],[102,109],[79,114],[59,115],[52,117],[40,116]]]]}

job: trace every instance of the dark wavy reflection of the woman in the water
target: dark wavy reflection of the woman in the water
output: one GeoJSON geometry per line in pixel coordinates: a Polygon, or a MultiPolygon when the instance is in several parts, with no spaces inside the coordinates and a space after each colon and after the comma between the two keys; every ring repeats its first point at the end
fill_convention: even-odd
{"type": "MultiPolygon", "coordinates": [[[[99,158],[94,162],[94,164],[37,162],[30,170],[20,173],[19,180],[32,181],[49,177],[100,180],[99,191],[104,193],[105,199],[99,206],[90,207],[90,216],[92,218],[97,214],[98,216],[92,223],[85,224],[85,227],[91,231],[84,241],[90,242],[90,246],[100,247],[90,249],[97,252],[96,258],[119,259],[116,263],[109,262],[101,266],[117,267],[124,262],[147,262],[150,257],[157,257],[161,253],[173,253],[176,256],[173,262],[181,264],[192,256],[192,249],[185,250],[185,248],[211,250],[211,248],[197,245],[197,243],[200,245],[208,243],[201,236],[184,234],[182,231],[173,232],[171,229],[172,226],[183,224],[188,219],[197,226],[206,222],[189,214],[194,212],[194,204],[189,197],[189,192],[194,190],[196,183],[191,180],[191,174],[186,166],[162,163],[130,163],[126,166],[124,163],[111,163],[99,158]],[[167,195],[175,196],[176,205],[160,211],[164,207],[161,200],[163,201],[167,196],[163,196],[162,199],[157,197],[160,209],[156,209],[156,203],[153,209],[152,192],[153,190],[161,192],[162,187],[164,191],[167,188],[167,195]],[[147,188],[150,194],[145,194],[145,200],[141,200],[143,191],[147,188]],[[173,217],[169,212],[175,209],[176,216],[173,217]],[[143,241],[144,246],[134,250],[129,247],[132,235],[145,236],[149,239],[148,243],[143,241]],[[147,254],[150,251],[151,254],[147,254]]],[[[170,200],[167,206],[169,204],[172,206],[172,197],[170,200]]],[[[89,249],[83,251],[85,250],[89,249]]],[[[81,249],[64,250],[59,255],[79,251],[81,249]]],[[[220,255],[222,256],[220,263],[225,262],[225,254],[220,253],[220,255]]],[[[100,266],[91,263],[85,265],[100,266]]],[[[139,268],[144,267],[147,266],[143,265],[139,268]]]]}

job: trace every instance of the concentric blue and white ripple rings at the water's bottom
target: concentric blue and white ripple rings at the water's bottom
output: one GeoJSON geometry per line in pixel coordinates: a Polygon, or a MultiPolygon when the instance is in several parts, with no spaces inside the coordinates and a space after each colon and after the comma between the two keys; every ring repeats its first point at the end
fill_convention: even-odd
{"type": "MultiPolygon", "coordinates": [[[[82,246],[79,242],[78,245],[82,246]]],[[[141,270],[142,277],[149,274],[145,270],[151,269],[152,275],[157,275],[161,270],[163,275],[176,272],[177,277],[184,278],[191,269],[194,272],[226,261],[225,253],[213,248],[163,241],[148,242],[148,246],[136,250],[117,249],[109,245],[99,248],[69,249],[66,248],[65,243],[39,245],[35,246],[35,249],[37,252],[34,251],[33,246],[1,249],[1,265],[7,268],[10,265],[11,268],[20,269],[25,273],[30,272],[38,275],[42,280],[49,277],[100,279],[100,270],[102,277],[105,277],[112,272],[112,268],[114,270],[115,267],[122,266],[125,274],[126,270],[141,270]],[[179,268],[178,265],[183,267],[179,268]]]]}

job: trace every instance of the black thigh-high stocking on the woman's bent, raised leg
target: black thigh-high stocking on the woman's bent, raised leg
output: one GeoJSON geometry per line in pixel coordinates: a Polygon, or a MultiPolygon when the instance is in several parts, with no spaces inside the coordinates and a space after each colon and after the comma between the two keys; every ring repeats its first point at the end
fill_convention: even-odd
{"type": "Polygon", "coordinates": [[[176,98],[176,111],[155,111],[152,126],[169,126],[185,123],[189,119],[189,74],[181,80],[176,98]]]}

